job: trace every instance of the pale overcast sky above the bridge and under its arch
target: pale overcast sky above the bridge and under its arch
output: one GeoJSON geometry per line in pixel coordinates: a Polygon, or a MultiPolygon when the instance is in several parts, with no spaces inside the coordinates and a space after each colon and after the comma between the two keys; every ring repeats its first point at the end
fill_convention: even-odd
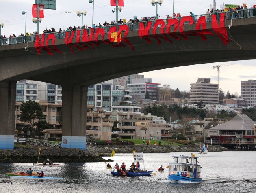
{"type": "MultiPolygon", "coordinates": [[[[158,5],[158,15],[160,19],[165,19],[167,14],[172,15],[174,3],[174,13],[180,13],[182,16],[189,15],[192,11],[195,15],[206,13],[207,9],[213,6],[213,0],[163,0],[161,6],[158,5]]],[[[256,0],[216,0],[216,8],[220,9],[221,4],[243,4],[248,7],[256,4],[256,0]]],[[[27,12],[26,31],[33,33],[37,31],[37,24],[32,19],[32,4],[35,0],[1,0],[0,23],[4,23],[1,28],[1,34],[7,37],[10,34],[19,36],[25,33],[25,15],[22,11],[27,12]]],[[[87,11],[83,17],[83,24],[91,26],[93,23],[104,23],[115,20],[116,13],[112,13],[115,6],[110,6],[110,0],[94,0],[93,4],[89,0],[56,0],[56,10],[45,9],[44,19],[39,24],[39,32],[45,28],[66,29],[69,26],[81,26],[82,17],[78,17],[76,11],[87,11]],[[67,12],[67,13],[65,13],[67,12]],[[70,13],[69,13],[70,12],[70,13]]],[[[124,7],[118,12],[118,19],[133,19],[137,16],[150,17],[156,15],[156,6],[152,6],[150,0],[124,0],[124,7]]],[[[190,83],[196,83],[197,78],[211,78],[211,83],[217,83],[217,69],[213,66],[220,67],[220,88],[226,93],[240,95],[241,82],[249,79],[256,80],[256,60],[247,61],[230,61],[223,63],[199,64],[193,66],[183,66],[144,72],[145,78],[153,78],[153,83],[170,85],[172,89],[179,88],[180,91],[189,92],[190,83]]]]}

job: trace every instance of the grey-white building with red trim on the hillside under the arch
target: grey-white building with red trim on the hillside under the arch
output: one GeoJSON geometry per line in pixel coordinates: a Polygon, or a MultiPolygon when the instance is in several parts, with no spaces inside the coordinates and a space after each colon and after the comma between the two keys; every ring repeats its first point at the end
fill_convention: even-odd
{"type": "Polygon", "coordinates": [[[132,90],[132,99],[145,99],[148,91],[149,99],[158,100],[160,83],[152,83],[152,78],[135,79],[127,88],[132,90]]]}

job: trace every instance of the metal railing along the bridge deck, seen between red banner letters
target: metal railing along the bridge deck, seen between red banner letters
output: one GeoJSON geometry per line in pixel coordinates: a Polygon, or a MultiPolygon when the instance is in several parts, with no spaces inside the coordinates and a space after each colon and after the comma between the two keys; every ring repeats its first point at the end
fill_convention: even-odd
{"type": "MultiPolygon", "coordinates": [[[[221,13],[225,13],[225,20],[228,19],[241,19],[241,18],[248,18],[248,17],[256,17],[256,8],[251,8],[251,9],[242,9],[242,10],[234,10],[234,11],[226,11],[226,12],[218,12],[218,13],[210,13],[210,14],[200,14],[200,15],[194,15],[192,16],[192,18],[194,19],[194,23],[197,22],[197,20],[202,17],[205,16],[206,17],[206,22],[211,22],[212,21],[212,15],[216,15],[217,21],[220,20],[220,14],[221,13]]],[[[176,19],[178,19],[179,23],[182,19],[182,17],[177,17],[176,19]]],[[[165,21],[165,26],[167,25],[167,19],[163,19],[165,21]]],[[[144,26],[146,27],[147,22],[148,21],[139,21],[144,23],[144,26]]],[[[152,26],[151,28],[153,28],[154,23],[156,22],[156,20],[152,20],[152,26]]],[[[125,23],[128,27],[129,30],[139,30],[139,23],[134,22],[134,23],[125,23]]],[[[189,22],[185,22],[184,25],[189,24],[189,22]]],[[[108,25],[108,26],[104,26],[104,27],[100,27],[103,28],[105,30],[105,33],[109,32],[109,28],[113,27],[114,25],[108,25]]],[[[119,30],[119,25],[115,25],[117,27],[117,30],[119,30]]],[[[83,29],[80,29],[81,33],[80,36],[83,35],[83,29]]],[[[88,35],[91,34],[91,28],[86,28],[88,35]]],[[[76,31],[75,30],[75,34],[74,36],[76,37],[76,31]]],[[[94,28],[94,33],[96,32],[96,28],[94,28]]],[[[69,31],[69,36],[71,35],[71,31],[69,31]]],[[[47,38],[48,34],[45,34],[45,39],[47,38]]],[[[60,38],[65,38],[66,37],[66,33],[65,32],[54,32],[54,36],[56,37],[56,39],[60,39],[60,38]]],[[[2,38],[0,39],[0,45],[11,45],[11,44],[19,44],[19,43],[26,43],[26,42],[35,42],[36,40],[36,35],[31,35],[31,36],[18,36],[15,38],[2,38]]],[[[40,35],[40,40],[41,40],[41,35],[40,35]]]]}

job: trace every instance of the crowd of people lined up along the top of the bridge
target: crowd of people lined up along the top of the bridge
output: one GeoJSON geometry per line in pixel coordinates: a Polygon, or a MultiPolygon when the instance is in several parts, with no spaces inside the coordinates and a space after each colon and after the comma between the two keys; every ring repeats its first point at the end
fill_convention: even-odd
{"type": "MultiPolygon", "coordinates": [[[[244,18],[244,17],[254,17],[256,16],[256,7],[251,7],[251,8],[247,8],[247,6],[236,6],[236,8],[228,8],[227,11],[223,10],[223,9],[217,9],[217,10],[213,10],[213,8],[210,10],[210,9],[207,9],[206,11],[206,22],[210,22],[212,20],[211,16],[212,14],[216,14],[217,16],[217,20],[219,20],[220,18],[220,13],[222,12],[225,12],[225,19],[236,19],[236,18],[244,18]],[[235,11],[236,10],[236,11],[235,11]]],[[[195,15],[190,12],[190,15],[191,17],[194,19],[194,23],[197,22],[197,19],[195,17],[195,15]]],[[[201,16],[201,15],[200,15],[201,16]]],[[[158,18],[160,16],[158,15],[158,18]]],[[[170,17],[169,15],[167,15],[166,19],[171,19],[171,18],[181,18],[181,15],[180,14],[173,14],[172,17],[170,17]]],[[[129,19],[128,22],[126,22],[126,20],[118,20],[118,21],[111,21],[111,22],[107,22],[105,21],[103,24],[99,23],[98,25],[95,25],[93,24],[92,28],[98,28],[98,27],[101,27],[101,28],[105,28],[106,30],[106,33],[108,33],[108,26],[111,26],[111,25],[120,25],[120,24],[128,24],[128,26],[131,26],[133,23],[139,23],[139,22],[142,22],[142,21],[152,21],[152,20],[155,20],[156,17],[142,17],[140,20],[136,17],[134,19],[129,19]]],[[[55,33],[57,32],[58,33],[58,37],[59,38],[63,38],[65,37],[65,31],[72,31],[72,30],[80,30],[80,29],[88,29],[88,28],[91,28],[90,26],[88,25],[83,25],[83,26],[69,26],[66,30],[65,29],[61,29],[59,28],[59,31],[56,31],[55,28],[49,28],[49,29],[45,29],[43,30],[43,34],[48,34],[48,33],[55,33]]],[[[24,34],[20,34],[20,36],[16,36],[15,34],[12,34],[9,36],[9,38],[7,38],[7,36],[5,35],[1,35],[0,36],[0,45],[6,45],[6,44],[15,44],[15,43],[21,43],[21,42],[27,42],[27,41],[34,41],[34,39],[30,36],[33,36],[33,35],[36,35],[38,34],[38,32],[33,32],[33,33],[29,33],[29,32],[26,32],[26,35],[24,34]],[[10,40],[9,40],[10,39],[10,40]],[[7,41],[10,41],[7,43],[7,41]]]]}

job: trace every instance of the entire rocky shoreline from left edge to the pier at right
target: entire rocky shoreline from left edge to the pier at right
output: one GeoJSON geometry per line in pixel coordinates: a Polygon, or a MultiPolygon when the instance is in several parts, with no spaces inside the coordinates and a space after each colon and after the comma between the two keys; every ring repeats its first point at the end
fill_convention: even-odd
{"type": "MultiPolygon", "coordinates": [[[[112,150],[115,153],[132,153],[133,151],[143,153],[167,153],[167,152],[197,152],[198,146],[146,146],[146,145],[87,145],[86,150],[77,148],[52,148],[26,145],[25,148],[15,148],[14,150],[0,150],[0,163],[42,163],[47,159],[54,163],[71,162],[104,162],[100,156],[109,155],[112,150]]],[[[226,151],[228,149],[221,146],[209,146],[208,151],[226,151]]]]}

